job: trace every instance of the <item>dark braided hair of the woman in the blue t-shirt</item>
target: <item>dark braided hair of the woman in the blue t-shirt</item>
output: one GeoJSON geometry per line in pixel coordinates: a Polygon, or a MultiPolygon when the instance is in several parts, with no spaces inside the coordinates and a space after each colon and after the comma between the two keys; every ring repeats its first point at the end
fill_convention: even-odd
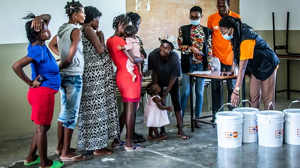
{"type": "Polygon", "coordinates": [[[24,16],[22,19],[31,19],[25,24],[25,30],[28,41],[32,44],[36,42],[38,39],[41,38],[41,31],[37,32],[34,28],[31,28],[32,20],[36,16],[33,13],[28,13],[26,16],[24,16]]]}

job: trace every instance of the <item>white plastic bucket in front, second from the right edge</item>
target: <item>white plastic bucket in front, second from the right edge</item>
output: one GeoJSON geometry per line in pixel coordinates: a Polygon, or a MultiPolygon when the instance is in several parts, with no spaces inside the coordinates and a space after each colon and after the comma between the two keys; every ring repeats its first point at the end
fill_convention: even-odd
{"type": "Polygon", "coordinates": [[[263,110],[259,111],[256,116],[259,128],[258,145],[264,147],[282,146],[284,113],[276,110],[263,110]]]}

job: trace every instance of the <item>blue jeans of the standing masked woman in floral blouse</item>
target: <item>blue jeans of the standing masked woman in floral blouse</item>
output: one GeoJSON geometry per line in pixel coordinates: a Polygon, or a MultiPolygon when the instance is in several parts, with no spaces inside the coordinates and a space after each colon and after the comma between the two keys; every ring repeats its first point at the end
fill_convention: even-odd
{"type": "MultiPolygon", "coordinates": [[[[194,71],[203,71],[203,64],[192,64],[190,67],[190,73],[194,71]]],[[[197,117],[200,116],[202,110],[204,83],[205,83],[205,79],[196,78],[195,116],[197,117]]],[[[184,73],[182,74],[182,91],[180,97],[180,103],[182,105],[182,117],[184,117],[184,112],[187,105],[187,98],[189,94],[190,94],[190,76],[184,73]]]]}

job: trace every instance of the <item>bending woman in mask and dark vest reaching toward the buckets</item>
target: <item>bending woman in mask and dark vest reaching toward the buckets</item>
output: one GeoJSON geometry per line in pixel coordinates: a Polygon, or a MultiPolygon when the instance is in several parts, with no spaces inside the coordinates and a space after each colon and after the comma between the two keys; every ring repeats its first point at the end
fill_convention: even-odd
{"type": "MultiPolygon", "coordinates": [[[[238,76],[231,94],[231,105],[239,102],[239,90],[245,71],[250,74],[250,102],[259,109],[260,98],[263,98],[265,110],[275,100],[276,70],[279,60],[267,42],[252,30],[241,19],[225,16],[219,22],[223,38],[230,39],[233,56],[238,63],[238,76]]],[[[226,72],[232,75],[233,72],[226,72]]],[[[223,73],[222,75],[224,75],[223,73]]],[[[273,110],[270,107],[269,110],[273,110]]]]}

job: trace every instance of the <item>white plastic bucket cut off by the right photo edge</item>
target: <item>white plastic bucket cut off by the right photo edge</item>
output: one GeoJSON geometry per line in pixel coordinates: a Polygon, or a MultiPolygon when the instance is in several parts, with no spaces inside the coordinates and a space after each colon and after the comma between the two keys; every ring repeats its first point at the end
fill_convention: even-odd
{"type": "MultiPolygon", "coordinates": [[[[293,101],[295,103],[298,101],[293,101]]],[[[291,103],[291,104],[292,104],[291,103]]],[[[283,110],[284,117],[284,142],[290,145],[300,145],[300,109],[283,110]]]]}

